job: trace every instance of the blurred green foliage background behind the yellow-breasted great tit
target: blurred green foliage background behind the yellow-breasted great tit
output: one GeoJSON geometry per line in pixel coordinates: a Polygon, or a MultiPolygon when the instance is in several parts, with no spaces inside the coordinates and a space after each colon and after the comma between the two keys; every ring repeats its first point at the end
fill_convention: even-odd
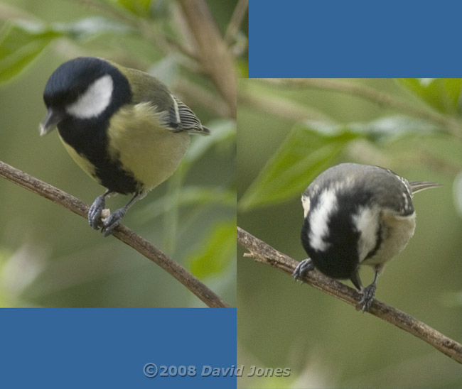
{"type": "MultiPolygon", "coordinates": [[[[227,81],[235,85],[236,76],[247,76],[247,1],[198,3],[209,10],[208,21],[216,23],[230,53],[227,75],[235,74],[227,81]]],[[[193,23],[187,5],[2,0],[0,159],[91,203],[103,188],[73,163],[56,133],[38,137],[48,77],[81,55],[159,77],[213,135],[192,137],[175,175],[136,204],[124,224],[235,305],[235,107],[201,58],[194,34],[201,21],[193,23]]],[[[0,180],[0,193],[1,306],[204,306],[161,268],[116,239],[103,239],[75,214],[6,180],[0,180]]],[[[108,206],[126,202],[117,196],[108,206]]]]}

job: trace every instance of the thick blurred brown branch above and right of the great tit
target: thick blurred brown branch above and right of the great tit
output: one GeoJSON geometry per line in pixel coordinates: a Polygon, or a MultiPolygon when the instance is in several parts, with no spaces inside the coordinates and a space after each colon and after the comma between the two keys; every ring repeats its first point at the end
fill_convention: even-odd
{"type": "Polygon", "coordinates": [[[233,118],[237,115],[237,86],[235,62],[222,38],[204,0],[180,0],[190,31],[197,43],[200,64],[222,97],[230,106],[233,118]]]}

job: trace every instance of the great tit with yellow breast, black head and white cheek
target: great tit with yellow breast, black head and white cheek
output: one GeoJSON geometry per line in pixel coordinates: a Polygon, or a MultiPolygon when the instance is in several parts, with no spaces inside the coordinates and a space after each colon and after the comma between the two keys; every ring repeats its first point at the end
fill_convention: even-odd
{"type": "Polygon", "coordinates": [[[207,135],[193,111],[155,77],[97,57],[77,57],[50,76],[41,136],[55,126],[70,156],[107,190],[88,212],[88,223],[108,236],[137,200],[170,177],[189,144],[207,135]],[[101,220],[105,199],[134,194],[101,220]]]}

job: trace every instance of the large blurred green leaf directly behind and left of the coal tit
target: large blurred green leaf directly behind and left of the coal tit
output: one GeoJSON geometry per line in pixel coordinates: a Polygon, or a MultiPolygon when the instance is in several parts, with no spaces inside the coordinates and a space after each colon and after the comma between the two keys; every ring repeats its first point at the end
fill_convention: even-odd
{"type": "Polygon", "coordinates": [[[346,128],[321,123],[296,124],[239,202],[246,211],[301,195],[316,175],[331,165],[356,138],[346,128]]]}

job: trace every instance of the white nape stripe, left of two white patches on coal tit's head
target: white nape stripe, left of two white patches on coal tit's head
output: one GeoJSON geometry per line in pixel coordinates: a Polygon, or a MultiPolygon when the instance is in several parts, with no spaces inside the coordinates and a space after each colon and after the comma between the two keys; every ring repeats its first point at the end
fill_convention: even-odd
{"type": "Polygon", "coordinates": [[[324,238],[328,235],[328,222],[331,214],[338,209],[337,192],[333,189],[324,190],[319,195],[317,207],[311,210],[310,232],[308,238],[310,246],[317,251],[326,251],[328,243],[324,238]]]}

